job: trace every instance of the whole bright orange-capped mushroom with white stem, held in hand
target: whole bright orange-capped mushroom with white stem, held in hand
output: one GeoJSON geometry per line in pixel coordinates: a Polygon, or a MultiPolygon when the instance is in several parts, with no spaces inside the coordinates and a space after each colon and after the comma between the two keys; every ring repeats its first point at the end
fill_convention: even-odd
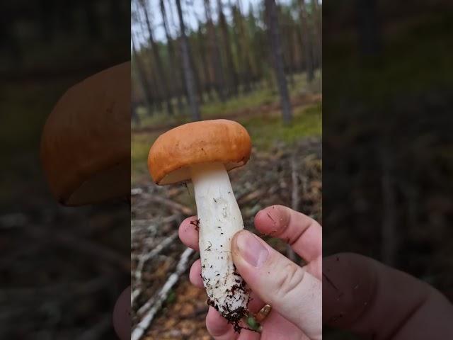
{"type": "Polygon", "coordinates": [[[156,184],[192,180],[208,301],[236,324],[247,314],[248,289],[231,259],[231,239],[243,229],[243,220],[227,171],[246,164],[250,153],[251,139],[242,125],[205,120],[159,136],[148,157],[156,184]]]}

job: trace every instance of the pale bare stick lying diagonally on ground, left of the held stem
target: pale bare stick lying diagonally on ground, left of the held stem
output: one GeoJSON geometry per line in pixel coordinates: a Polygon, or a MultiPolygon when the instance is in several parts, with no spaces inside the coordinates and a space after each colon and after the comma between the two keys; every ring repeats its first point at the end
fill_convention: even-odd
{"type": "MultiPolygon", "coordinates": [[[[149,302],[152,302],[152,307],[144,314],[144,317],[142,320],[137,324],[136,327],[132,330],[131,334],[131,340],[139,340],[142,339],[142,336],[144,335],[144,332],[149,328],[149,325],[154,319],[154,316],[156,315],[156,312],[158,312],[162,306],[162,303],[166,300],[166,297],[168,295],[168,292],[173,288],[173,285],[175,285],[178,282],[179,276],[185,272],[185,270],[188,267],[188,260],[190,255],[193,254],[193,249],[185,249],[183,254],[180,256],[180,260],[178,262],[178,265],[176,266],[176,271],[171,274],[171,276],[168,277],[168,280],[164,284],[164,286],[161,288],[159,293],[157,293],[154,297],[151,297],[149,302]]],[[[148,303],[148,302],[147,302],[148,303]]],[[[145,304],[146,305],[146,304],[145,304]]],[[[140,308],[140,310],[142,310],[140,308]]]]}

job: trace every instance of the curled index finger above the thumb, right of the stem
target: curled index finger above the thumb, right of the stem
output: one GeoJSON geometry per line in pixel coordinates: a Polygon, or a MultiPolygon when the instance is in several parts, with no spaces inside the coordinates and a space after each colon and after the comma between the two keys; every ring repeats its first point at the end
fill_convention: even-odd
{"type": "Polygon", "coordinates": [[[322,227],[302,212],[271,205],[256,214],[255,227],[263,234],[287,242],[307,262],[322,256],[322,227]]]}

